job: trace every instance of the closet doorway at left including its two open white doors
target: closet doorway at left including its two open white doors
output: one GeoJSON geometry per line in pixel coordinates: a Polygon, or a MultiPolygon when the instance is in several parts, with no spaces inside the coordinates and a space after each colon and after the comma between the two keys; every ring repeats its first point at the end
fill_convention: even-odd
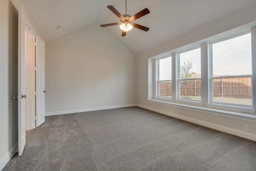
{"type": "Polygon", "coordinates": [[[44,55],[45,44],[29,23],[24,6],[18,14],[18,152],[26,144],[26,130],[44,123],[44,55]]]}

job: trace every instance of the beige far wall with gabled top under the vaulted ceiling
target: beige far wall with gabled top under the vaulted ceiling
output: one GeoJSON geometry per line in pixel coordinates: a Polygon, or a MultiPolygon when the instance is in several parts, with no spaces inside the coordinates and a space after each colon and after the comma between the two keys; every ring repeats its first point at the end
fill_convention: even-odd
{"type": "Polygon", "coordinates": [[[124,44],[99,24],[46,43],[46,115],[136,103],[130,50],[127,59],[124,44]]]}

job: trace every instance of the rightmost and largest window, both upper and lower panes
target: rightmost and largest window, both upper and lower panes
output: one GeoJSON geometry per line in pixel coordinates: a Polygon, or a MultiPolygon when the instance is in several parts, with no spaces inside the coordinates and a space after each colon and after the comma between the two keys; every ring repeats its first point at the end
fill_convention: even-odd
{"type": "Polygon", "coordinates": [[[212,44],[212,103],[252,105],[251,34],[212,44]]]}

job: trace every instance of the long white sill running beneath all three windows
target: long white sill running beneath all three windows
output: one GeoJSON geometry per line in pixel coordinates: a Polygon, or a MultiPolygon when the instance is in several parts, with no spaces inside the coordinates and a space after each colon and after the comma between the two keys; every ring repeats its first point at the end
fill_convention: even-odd
{"type": "MultiPolygon", "coordinates": [[[[175,101],[178,102],[179,100],[175,100],[175,101]]],[[[248,110],[246,110],[246,111],[249,111],[249,112],[243,113],[242,111],[239,112],[238,110],[232,111],[231,110],[232,107],[230,107],[230,106],[228,106],[228,108],[226,108],[226,110],[224,110],[224,109],[220,109],[220,107],[218,107],[218,109],[214,109],[214,108],[210,108],[210,106],[203,107],[203,106],[199,106],[199,105],[190,105],[190,104],[169,102],[169,101],[158,100],[158,99],[148,99],[148,102],[256,122],[256,115],[254,113],[252,113],[252,111],[255,111],[255,109],[253,109],[253,108],[248,108],[248,110]]],[[[217,108],[217,105],[215,105],[215,107],[217,108]]],[[[246,107],[244,107],[244,108],[246,108],[246,107]]]]}

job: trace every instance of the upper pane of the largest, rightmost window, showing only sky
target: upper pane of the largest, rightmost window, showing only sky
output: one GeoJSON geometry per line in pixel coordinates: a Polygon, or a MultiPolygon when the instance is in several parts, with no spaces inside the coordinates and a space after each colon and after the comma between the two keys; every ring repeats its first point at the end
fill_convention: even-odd
{"type": "Polygon", "coordinates": [[[252,74],[251,34],[212,45],[213,76],[252,74]]]}

